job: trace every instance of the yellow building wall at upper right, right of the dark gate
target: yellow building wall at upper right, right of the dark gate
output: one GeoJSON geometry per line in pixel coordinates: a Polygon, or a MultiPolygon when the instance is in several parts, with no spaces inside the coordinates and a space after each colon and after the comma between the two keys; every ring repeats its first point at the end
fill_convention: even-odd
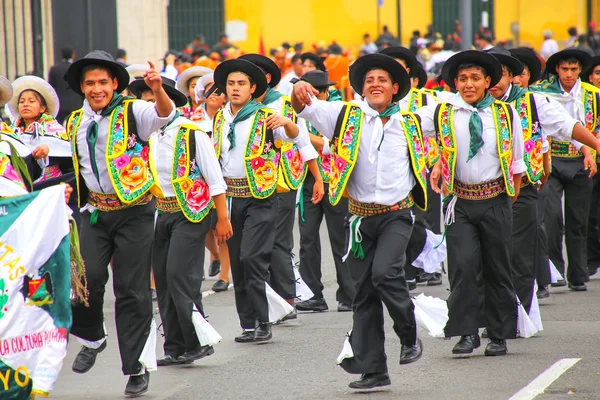
{"type": "Polygon", "coordinates": [[[519,22],[521,45],[540,50],[544,31],[550,29],[561,47],[569,39],[567,30],[574,26],[587,32],[586,0],[496,0],[494,1],[494,28],[499,40],[512,39],[511,23],[519,22]]]}

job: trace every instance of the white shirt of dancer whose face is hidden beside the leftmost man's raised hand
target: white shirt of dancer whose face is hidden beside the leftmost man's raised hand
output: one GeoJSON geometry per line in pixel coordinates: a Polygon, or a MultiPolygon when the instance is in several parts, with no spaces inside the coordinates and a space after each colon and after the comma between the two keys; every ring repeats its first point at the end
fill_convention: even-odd
{"type": "MultiPolygon", "coordinates": [[[[152,136],[151,157],[158,172],[158,185],[165,197],[175,196],[172,184],[173,149],[177,131],[182,124],[194,124],[189,119],[179,117],[167,128],[159,130],[152,136]]],[[[227,185],[223,180],[221,166],[217,160],[215,149],[208,135],[201,131],[195,132],[196,139],[196,164],[200,173],[209,187],[210,196],[214,197],[225,193],[227,185]]]]}

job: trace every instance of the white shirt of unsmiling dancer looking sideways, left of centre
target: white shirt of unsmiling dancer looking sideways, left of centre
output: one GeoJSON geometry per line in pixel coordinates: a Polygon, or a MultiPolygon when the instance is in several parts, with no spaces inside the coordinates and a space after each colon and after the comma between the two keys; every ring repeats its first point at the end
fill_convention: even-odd
{"type": "MultiPolygon", "coordinates": [[[[221,138],[221,166],[223,168],[223,176],[235,179],[246,178],[244,159],[246,157],[246,146],[250,137],[250,129],[252,128],[255,116],[235,124],[235,147],[233,149],[230,148],[231,143],[227,139],[229,124],[235,118],[231,112],[231,103],[229,102],[227,102],[227,105],[223,109],[223,117],[225,118],[222,132],[223,137],[221,138]]],[[[273,130],[273,138],[275,140],[281,139],[286,142],[294,142],[294,139],[286,135],[283,127],[273,130]]]]}

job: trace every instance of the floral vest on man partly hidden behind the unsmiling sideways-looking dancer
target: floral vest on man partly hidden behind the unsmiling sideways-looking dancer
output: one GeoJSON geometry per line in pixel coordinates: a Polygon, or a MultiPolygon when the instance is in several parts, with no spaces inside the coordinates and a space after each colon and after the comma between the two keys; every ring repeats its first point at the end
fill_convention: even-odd
{"type": "MultiPolygon", "coordinates": [[[[292,108],[292,102],[290,98],[283,96],[282,100],[283,104],[281,107],[281,115],[290,119],[293,123],[297,123],[298,116],[292,108]]],[[[304,161],[302,161],[302,157],[300,157],[298,146],[296,146],[294,143],[285,142],[283,140],[277,140],[275,142],[275,146],[281,151],[281,163],[279,164],[279,168],[281,170],[279,172],[280,186],[282,186],[283,191],[288,191],[286,190],[288,188],[291,190],[297,190],[304,181],[308,171],[304,161]],[[281,182],[281,178],[284,178],[285,181],[281,182]]]]}

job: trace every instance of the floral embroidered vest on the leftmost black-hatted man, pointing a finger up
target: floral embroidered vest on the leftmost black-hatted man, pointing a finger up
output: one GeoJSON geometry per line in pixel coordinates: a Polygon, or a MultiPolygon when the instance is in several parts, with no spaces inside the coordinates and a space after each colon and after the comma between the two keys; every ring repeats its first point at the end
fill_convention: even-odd
{"type": "MultiPolygon", "coordinates": [[[[154,176],[150,170],[148,142],[137,135],[137,125],[132,104],[136,100],[124,100],[109,116],[108,140],[105,161],[108,175],[117,197],[124,204],[139,200],[154,186],[154,176]]],[[[67,134],[71,138],[73,149],[73,167],[75,169],[77,193],[80,193],[81,177],[77,153],[77,132],[83,116],[83,110],[74,111],[67,121],[67,134]]],[[[81,134],[85,135],[85,132],[81,134]]],[[[99,132],[99,135],[104,134],[99,132]]],[[[81,197],[79,198],[81,205],[81,197]]]]}

